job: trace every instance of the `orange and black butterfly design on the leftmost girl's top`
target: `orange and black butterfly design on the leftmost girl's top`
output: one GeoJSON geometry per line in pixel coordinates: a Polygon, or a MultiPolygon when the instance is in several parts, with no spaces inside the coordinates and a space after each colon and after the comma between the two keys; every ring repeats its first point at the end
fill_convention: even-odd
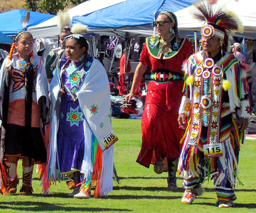
{"type": "MultiPolygon", "coordinates": [[[[33,78],[33,81],[34,81],[36,79],[36,69],[34,69],[33,72],[34,72],[34,78],[33,78]]],[[[12,80],[14,81],[14,84],[12,87],[12,92],[18,91],[25,85],[26,75],[22,71],[12,68],[11,69],[11,77],[12,77],[12,80]]],[[[35,92],[34,83],[33,83],[33,92],[35,92]]]]}

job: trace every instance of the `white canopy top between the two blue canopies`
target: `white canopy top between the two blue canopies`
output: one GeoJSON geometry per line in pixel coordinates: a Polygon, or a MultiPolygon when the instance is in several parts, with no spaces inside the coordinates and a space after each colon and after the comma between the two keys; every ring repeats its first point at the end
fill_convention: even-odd
{"type": "MultiPolygon", "coordinates": [[[[68,10],[69,16],[72,19],[74,16],[84,16],[93,11],[97,11],[103,8],[107,8],[114,4],[124,2],[126,0],[97,0],[97,4],[94,0],[86,1],[68,10]]],[[[32,33],[34,38],[49,37],[58,35],[60,33],[59,27],[57,27],[57,16],[48,19],[36,26],[28,27],[28,31],[32,33]]]]}

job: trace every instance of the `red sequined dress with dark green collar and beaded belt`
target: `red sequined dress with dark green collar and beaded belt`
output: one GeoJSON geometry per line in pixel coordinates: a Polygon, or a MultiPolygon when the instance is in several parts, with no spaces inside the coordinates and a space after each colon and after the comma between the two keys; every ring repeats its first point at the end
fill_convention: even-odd
{"type": "Polygon", "coordinates": [[[176,158],[180,155],[180,139],[184,134],[178,125],[178,111],[183,95],[183,62],[192,54],[187,39],[172,39],[171,52],[164,54],[159,36],[148,37],[140,62],[151,67],[150,82],[142,116],[142,145],[137,163],[149,168],[156,157],[176,158]],[[155,152],[154,152],[155,150],[155,152]]]}

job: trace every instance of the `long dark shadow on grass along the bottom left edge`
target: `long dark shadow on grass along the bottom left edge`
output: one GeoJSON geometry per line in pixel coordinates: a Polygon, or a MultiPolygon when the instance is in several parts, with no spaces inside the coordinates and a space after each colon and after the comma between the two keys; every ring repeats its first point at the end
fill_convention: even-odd
{"type": "MultiPolygon", "coordinates": [[[[73,198],[74,199],[74,198],[73,198]]],[[[84,205],[84,204],[81,204],[84,205]]],[[[63,207],[63,204],[52,204],[46,202],[1,202],[0,209],[12,209],[18,211],[61,211],[61,212],[70,212],[70,211],[132,211],[131,209],[111,209],[111,208],[97,208],[97,207],[63,207]],[[11,206],[9,206],[11,205],[11,206]],[[19,205],[26,207],[19,207],[19,205]]]]}

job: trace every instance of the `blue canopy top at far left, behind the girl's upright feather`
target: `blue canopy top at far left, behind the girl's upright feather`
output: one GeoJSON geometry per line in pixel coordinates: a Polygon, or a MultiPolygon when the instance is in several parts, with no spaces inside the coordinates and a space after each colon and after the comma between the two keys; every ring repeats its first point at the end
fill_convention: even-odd
{"type": "MultiPolygon", "coordinates": [[[[22,31],[22,20],[28,11],[26,10],[12,10],[8,12],[0,13],[0,26],[1,32],[8,36],[15,36],[18,31],[22,31]]],[[[28,21],[28,26],[35,26],[47,19],[52,18],[54,15],[44,14],[40,12],[30,12],[30,19],[28,21]]]]}

